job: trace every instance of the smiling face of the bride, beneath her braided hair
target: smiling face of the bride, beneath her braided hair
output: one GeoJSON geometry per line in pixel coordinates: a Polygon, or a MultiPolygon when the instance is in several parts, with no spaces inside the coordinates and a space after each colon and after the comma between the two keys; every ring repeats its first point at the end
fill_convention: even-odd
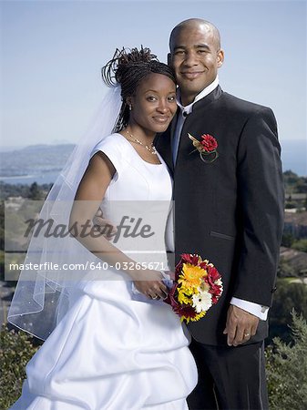
{"type": "Polygon", "coordinates": [[[147,132],[163,132],[177,110],[176,86],[167,76],[149,74],[139,83],[136,94],[130,97],[129,102],[132,105],[131,125],[138,125],[147,132]]]}

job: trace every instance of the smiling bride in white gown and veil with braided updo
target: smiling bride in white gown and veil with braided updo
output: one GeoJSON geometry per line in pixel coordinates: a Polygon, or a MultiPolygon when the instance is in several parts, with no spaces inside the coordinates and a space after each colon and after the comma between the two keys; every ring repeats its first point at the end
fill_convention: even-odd
{"type": "Polygon", "coordinates": [[[12,409],[187,409],[197,382],[179,317],[162,301],[172,181],[153,139],[177,110],[175,78],[146,48],[117,50],[102,73],[103,124],[77,146],[40,215],[72,234],[41,230],[26,257],[60,268],[22,272],[9,311],[10,323],[46,339],[12,409]],[[98,209],[118,227],[109,240],[95,230],[98,209]]]}

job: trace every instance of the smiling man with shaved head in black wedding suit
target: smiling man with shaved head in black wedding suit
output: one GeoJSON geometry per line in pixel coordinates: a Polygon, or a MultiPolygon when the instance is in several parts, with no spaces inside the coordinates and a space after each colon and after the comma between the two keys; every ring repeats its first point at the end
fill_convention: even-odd
{"type": "Polygon", "coordinates": [[[283,217],[276,121],[270,108],[220,88],[224,53],[215,26],[183,21],[169,47],[179,110],[155,145],[173,170],[176,259],[186,252],[209,259],[224,287],[220,302],[189,323],[199,369],[189,408],[268,409],[263,340],[283,217]]]}

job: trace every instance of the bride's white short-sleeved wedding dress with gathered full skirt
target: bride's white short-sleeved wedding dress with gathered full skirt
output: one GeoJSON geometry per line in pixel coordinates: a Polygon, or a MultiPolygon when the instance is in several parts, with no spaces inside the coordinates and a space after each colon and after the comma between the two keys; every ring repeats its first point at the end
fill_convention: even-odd
{"type": "MultiPolygon", "coordinates": [[[[98,149],[117,169],[104,212],[109,211],[107,201],[171,200],[163,161],[144,161],[119,134],[107,137],[98,149]]],[[[115,218],[112,212],[107,217],[115,218]]],[[[165,227],[167,212],[163,218],[165,227]]],[[[109,280],[82,281],[72,290],[75,302],[27,364],[23,394],[12,408],[187,409],[197,369],[179,317],[164,302],[138,300],[124,274],[97,274],[109,280]]]]}

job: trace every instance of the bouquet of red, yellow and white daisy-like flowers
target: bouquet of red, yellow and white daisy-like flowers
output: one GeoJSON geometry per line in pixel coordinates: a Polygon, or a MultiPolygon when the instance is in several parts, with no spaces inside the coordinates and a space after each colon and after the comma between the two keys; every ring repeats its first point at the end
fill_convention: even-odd
{"type": "Polygon", "coordinates": [[[219,301],[223,292],[220,273],[199,255],[182,253],[175,269],[175,281],[164,300],[181,322],[199,321],[219,301]]]}

